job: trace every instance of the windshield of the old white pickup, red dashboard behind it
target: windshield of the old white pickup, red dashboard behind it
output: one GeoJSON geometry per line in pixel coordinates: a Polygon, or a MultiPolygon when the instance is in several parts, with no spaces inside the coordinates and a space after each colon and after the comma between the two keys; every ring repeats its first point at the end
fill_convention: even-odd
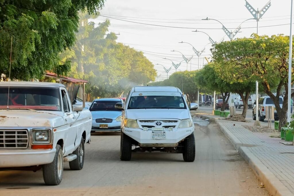
{"type": "Polygon", "coordinates": [[[58,88],[0,87],[0,109],[61,111],[58,88]]]}

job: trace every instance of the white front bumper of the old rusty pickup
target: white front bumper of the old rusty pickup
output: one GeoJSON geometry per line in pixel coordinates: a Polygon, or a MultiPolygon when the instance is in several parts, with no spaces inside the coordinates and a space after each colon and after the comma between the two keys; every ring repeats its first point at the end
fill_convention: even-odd
{"type": "Polygon", "coordinates": [[[26,167],[52,163],[56,148],[48,150],[1,149],[0,167],[26,167]]]}

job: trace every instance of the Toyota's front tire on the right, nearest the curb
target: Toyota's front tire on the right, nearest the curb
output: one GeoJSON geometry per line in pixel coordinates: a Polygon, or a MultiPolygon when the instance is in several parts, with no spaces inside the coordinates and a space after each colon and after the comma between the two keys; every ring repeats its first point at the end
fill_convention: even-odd
{"type": "Polygon", "coordinates": [[[195,160],[195,137],[194,133],[184,140],[183,159],[185,162],[193,162],[195,160]]]}

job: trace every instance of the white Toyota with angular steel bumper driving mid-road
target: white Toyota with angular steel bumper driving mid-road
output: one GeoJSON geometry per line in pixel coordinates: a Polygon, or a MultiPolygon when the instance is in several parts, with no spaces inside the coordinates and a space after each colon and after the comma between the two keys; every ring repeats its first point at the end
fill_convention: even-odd
{"type": "MultiPolygon", "coordinates": [[[[123,110],[121,160],[131,160],[132,151],[161,151],[183,153],[184,161],[194,161],[194,123],[178,88],[133,87],[125,105],[117,103],[116,108],[123,110]],[[133,150],[132,146],[135,147],[133,150]]],[[[190,110],[197,108],[196,103],[191,103],[190,110]]]]}

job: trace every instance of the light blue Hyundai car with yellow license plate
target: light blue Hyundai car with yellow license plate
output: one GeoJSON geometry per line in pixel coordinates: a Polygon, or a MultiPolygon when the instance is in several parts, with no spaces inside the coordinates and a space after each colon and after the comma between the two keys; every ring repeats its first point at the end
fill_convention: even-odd
{"type": "Polygon", "coordinates": [[[121,110],[115,108],[116,103],[123,104],[123,100],[102,98],[93,101],[90,107],[93,116],[91,132],[121,130],[121,110]]]}

